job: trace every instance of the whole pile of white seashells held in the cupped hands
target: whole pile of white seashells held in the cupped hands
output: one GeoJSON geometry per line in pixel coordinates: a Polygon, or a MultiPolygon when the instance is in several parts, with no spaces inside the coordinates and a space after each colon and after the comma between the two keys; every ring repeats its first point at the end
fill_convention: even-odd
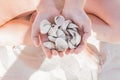
{"type": "Polygon", "coordinates": [[[43,45],[57,51],[77,48],[81,42],[78,26],[61,15],[56,16],[54,22],[55,24],[51,24],[48,20],[43,20],[40,23],[41,34],[48,35],[48,41],[43,42],[43,45]]]}

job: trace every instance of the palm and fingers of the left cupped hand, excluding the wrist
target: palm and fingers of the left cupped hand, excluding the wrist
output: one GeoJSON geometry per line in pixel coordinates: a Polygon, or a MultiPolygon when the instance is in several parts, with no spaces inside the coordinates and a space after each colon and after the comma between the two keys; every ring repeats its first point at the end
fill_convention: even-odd
{"type": "Polygon", "coordinates": [[[39,45],[39,43],[41,44],[44,53],[46,54],[47,57],[51,57],[52,56],[52,52],[51,50],[45,48],[42,43],[45,42],[47,40],[47,35],[43,35],[40,33],[40,22],[44,19],[49,20],[50,22],[53,21],[53,18],[55,16],[59,15],[59,11],[56,9],[53,10],[41,10],[39,11],[39,13],[36,16],[36,19],[33,23],[33,27],[32,27],[32,38],[34,40],[36,40],[36,44],[39,45]]]}

